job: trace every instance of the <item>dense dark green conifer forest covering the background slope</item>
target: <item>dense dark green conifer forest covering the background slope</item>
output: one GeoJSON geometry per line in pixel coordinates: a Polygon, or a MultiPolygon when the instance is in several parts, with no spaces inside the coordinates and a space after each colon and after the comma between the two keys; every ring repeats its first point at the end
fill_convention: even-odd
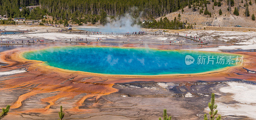
{"type": "Polygon", "coordinates": [[[85,18],[88,15],[118,16],[130,13],[132,16],[158,18],[183,9],[193,3],[207,0],[0,0],[0,15],[11,18],[23,17],[38,20],[44,15],[57,20],[85,18]],[[26,6],[40,5],[29,11],[26,6]],[[20,11],[20,7],[22,11],[20,11]]]}

